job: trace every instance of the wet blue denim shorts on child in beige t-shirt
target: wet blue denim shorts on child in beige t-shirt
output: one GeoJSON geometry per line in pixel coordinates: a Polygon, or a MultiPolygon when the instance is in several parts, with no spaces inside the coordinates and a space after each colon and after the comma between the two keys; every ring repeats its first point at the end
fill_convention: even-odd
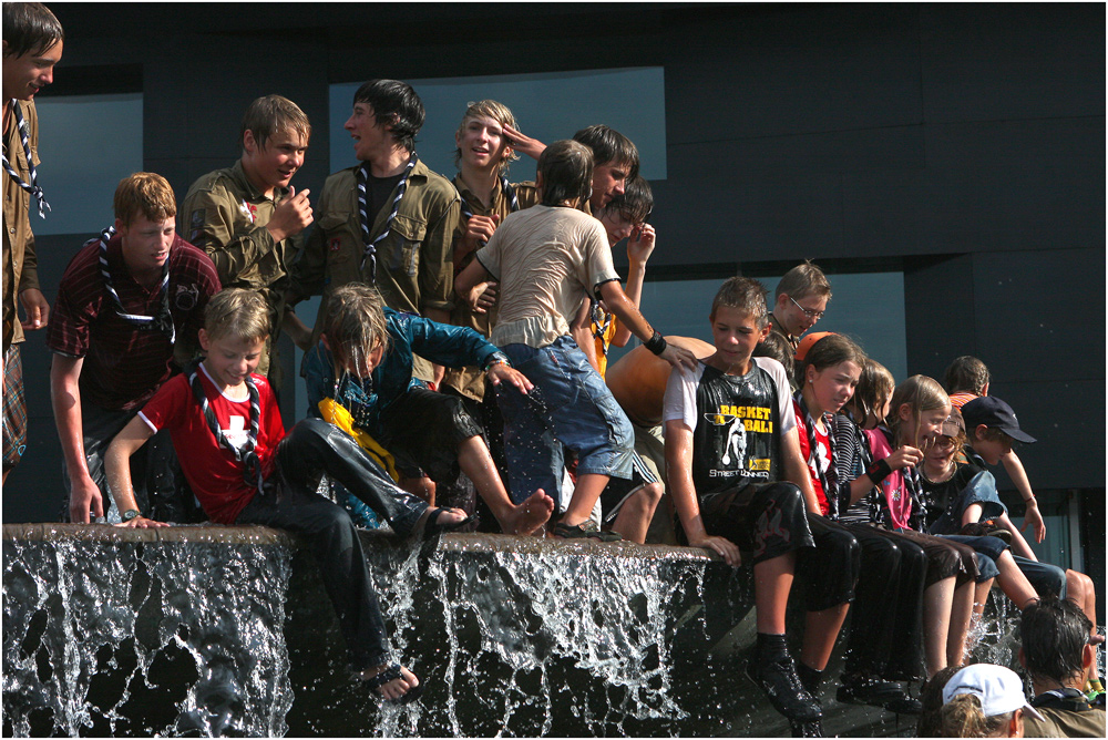
{"type": "Polygon", "coordinates": [[[527,394],[507,383],[496,387],[512,500],[520,503],[542,489],[555,508],[561,504],[563,446],[576,456],[577,475],[629,479],[635,433],[576,342],[560,337],[540,349],[501,349],[535,386],[527,394]]]}

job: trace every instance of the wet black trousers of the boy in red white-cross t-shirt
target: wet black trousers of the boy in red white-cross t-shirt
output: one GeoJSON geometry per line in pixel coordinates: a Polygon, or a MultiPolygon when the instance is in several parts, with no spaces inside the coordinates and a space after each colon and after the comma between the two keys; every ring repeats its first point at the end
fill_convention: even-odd
{"type": "Polygon", "coordinates": [[[409,534],[427,504],[403,491],[346,432],[320,419],[305,419],[277,446],[277,491],[256,495],[236,524],[261,524],[304,535],[319,564],[324,586],[339,620],[353,670],[392,660],[389,637],[350,515],[315,492],[320,473],[409,534]]]}

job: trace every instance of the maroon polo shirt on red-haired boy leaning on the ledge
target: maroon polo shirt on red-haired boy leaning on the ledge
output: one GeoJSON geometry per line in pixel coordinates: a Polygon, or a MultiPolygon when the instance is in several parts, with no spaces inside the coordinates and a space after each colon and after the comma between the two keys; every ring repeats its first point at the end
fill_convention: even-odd
{"type": "MultiPolygon", "coordinates": [[[[147,290],[131,277],[119,236],[107,243],[107,264],[124,311],[154,316],[162,302],[160,286],[147,290]]],[[[170,248],[168,291],[177,341],[195,346],[204,307],[219,291],[219,277],[208,256],[179,236],[170,248]]],[[[100,273],[100,239],[81,247],[65,268],[50,314],[47,347],[84,358],[81,398],[104,409],[141,407],[179,370],[164,331],[138,329],[116,316],[100,273]]]]}

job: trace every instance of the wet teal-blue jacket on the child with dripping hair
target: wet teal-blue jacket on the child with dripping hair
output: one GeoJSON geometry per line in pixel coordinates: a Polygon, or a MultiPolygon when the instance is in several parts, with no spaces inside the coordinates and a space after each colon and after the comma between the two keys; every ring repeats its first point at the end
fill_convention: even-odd
{"type": "Polygon", "coordinates": [[[308,386],[308,413],[319,415],[319,402],[334,398],[353,417],[356,426],[380,434],[381,412],[409,388],[425,388],[412,377],[412,353],[449,368],[485,367],[500,350],[469,327],[439,323],[414,314],[384,308],[389,349],[370,378],[345,374],[335,384],[335,362],[324,342],[308,350],[301,374],[308,386]]]}

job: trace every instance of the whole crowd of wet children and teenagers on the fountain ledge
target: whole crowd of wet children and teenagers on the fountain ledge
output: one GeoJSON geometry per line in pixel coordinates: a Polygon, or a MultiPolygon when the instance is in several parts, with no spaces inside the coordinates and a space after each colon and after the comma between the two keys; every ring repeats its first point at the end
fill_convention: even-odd
{"type": "MultiPolygon", "coordinates": [[[[979,378],[966,374],[975,360],[952,366],[946,390],[922,376],[894,388],[849,338],[802,338],[831,298],[810,263],[770,305],[758,281],[727,280],[711,345],[663,337],[638,310],[656,234],[629,140],[589,126],[545,146],[481,101],[455,134],[451,183],[416,153],[422,123],[411,86],[362,85],[345,124],[359,164],[328,177],[312,208],[290,184],[307,116],[256,100],[240,160],[185,196],[187,241],[164,178],[120,183],[114,224],[66,269],[49,328],[71,521],[114,503],[122,526],[165,526],[195,496],[211,521],[304,534],[352,670],[393,701],[422,685],[391,656],[351,514],[368,507],[401,535],[466,527],[471,512],[434,505],[460,474],[510,534],[644,543],[665,501],[676,541],[752,566],[748,672],[807,734],[851,604],[838,698],[910,713],[920,702],[902,685],[961,665],[994,579],[1020,608],[1053,592],[1095,623],[1088,577],[1037,563],[1006,518],[985,466],[1003,459],[1022,475],[1010,442],[1034,440],[987,374],[964,382],[979,378]],[[516,152],[537,160],[533,183],[507,181],[516,152]],[[626,291],[612,257],[624,239],[626,291]],[[309,328],[293,307],[312,295],[309,328]],[[306,351],[311,409],[287,433],[281,330],[306,351]],[[607,367],[632,336],[642,347],[607,367]],[[346,506],[317,493],[321,474],[346,506]]],[[[4,316],[7,340],[7,302],[4,316]]]]}

